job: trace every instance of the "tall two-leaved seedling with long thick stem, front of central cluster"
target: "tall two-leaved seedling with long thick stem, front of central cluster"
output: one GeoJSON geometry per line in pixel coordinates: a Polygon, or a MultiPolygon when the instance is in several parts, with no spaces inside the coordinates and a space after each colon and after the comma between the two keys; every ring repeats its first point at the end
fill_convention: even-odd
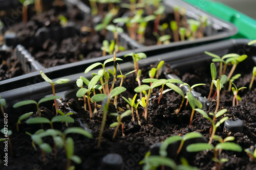
{"type": "Polygon", "coordinates": [[[101,108],[103,110],[103,115],[102,115],[102,122],[101,122],[100,133],[99,133],[98,148],[100,147],[101,137],[102,137],[102,134],[104,131],[104,126],[105,126],[105,122],[106,122],[106,114],[108,113],[108,110],[109,110],[110,100],[111,100],[111,98],[114,98],[114,96],[122,93],[125,90],[126,90],[126,88],[124,88],[124,87],[116,87],[111,90],[109,95],[96,94],[96,95],[92,96],[93,102],[103,101],[103,103],[101,104],[101,108]]]}

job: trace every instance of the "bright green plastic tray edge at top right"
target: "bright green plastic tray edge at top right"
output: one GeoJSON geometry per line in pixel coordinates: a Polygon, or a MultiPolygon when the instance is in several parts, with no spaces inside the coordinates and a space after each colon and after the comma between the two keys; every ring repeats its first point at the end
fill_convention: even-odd
{"type": "Polygon", "coordinates": [[[196,6],[200,10],[204,10],[221,19],[232,22],[239,29],[239,33],[232,38],[256,39],[256,20],[251,17],[219,2],[208,0],[184,1],[196,6]]]}

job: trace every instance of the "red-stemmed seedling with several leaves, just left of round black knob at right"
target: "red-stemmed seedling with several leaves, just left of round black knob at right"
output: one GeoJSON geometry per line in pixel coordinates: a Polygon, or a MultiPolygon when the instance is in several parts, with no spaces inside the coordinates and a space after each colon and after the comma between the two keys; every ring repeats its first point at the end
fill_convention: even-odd
{"type": "MultiPolygon", "coordinates": [[[[211,132],[211,136],[210,136],[210,139],[209,139],[209,144],[212,142],[212,139],[214,139],[214,135],[215,135],[215,132],[217,130],[217,128],[223,123],[225,122],[225,120],[228,119],[228,116],[225,116],[223,117],[222,119],[220,119],[219,122],[217,122],[216,124],[214,123],[214,120],[212,120],[205,111],[201,110],[201,109],[196,109],[196,111],[198,111],[199,113],[201,113],[203,115],[204,118],[207,118],[208,120],[210,120],[211,122],[211,125],[212,125],[212,132],[211,132]]],[[[224,113],[227,112],[227,109],[222,109],[220,111],[218,111],[216,114],[215,113],[209,113],[209,115],[212,115],[214,116],[214,118],[218,118],[220,116],[222,116],[224,113]]]]}

